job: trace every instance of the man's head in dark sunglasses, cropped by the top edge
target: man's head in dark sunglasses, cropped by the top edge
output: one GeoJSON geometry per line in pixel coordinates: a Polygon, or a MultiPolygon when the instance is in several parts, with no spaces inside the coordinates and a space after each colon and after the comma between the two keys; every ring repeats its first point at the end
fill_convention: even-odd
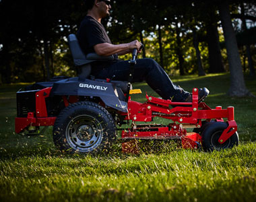
{"type": "Polygon", "coordinates": [[[85,0],[85,4],[88,11],[95,9],[102,16],[102,18],[110,15],[110,0],[85,0]]]}

